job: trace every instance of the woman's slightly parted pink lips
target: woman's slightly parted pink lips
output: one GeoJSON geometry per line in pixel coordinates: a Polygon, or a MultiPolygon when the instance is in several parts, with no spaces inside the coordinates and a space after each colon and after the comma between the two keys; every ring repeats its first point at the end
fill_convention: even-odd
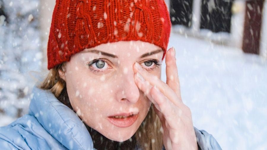
{"type": "MultiPolygon", "coordinates": [[[[137,120],[138,114],[130,115],[130,116],[125,117],[125,118],[124,117],[122,117],[122,118],[107,117],[107,118],[108,118],[109,122],[111,122],[113,125],[115,125],[117,127],[130,127],[137,120]]],[[[123,116],[123,115],[121,115],[121,116],[123,116]]]]}

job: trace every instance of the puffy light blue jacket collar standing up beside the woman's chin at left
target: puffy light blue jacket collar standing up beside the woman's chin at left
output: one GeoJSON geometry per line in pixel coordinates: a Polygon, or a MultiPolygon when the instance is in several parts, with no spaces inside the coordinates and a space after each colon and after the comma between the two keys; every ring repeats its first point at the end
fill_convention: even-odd
{"type": "Polygon", "coordinates": [[[92,138],[81,119],[50,90],[34,86],[29,114],[67,149],[93,149],[92,138]]]}

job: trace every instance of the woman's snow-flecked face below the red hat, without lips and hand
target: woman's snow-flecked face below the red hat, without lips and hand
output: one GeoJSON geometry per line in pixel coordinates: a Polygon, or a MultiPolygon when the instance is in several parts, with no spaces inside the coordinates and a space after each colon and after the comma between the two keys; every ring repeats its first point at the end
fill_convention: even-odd
{"type": "Polygon", "coordinates": [[[59,73],[66,81],[71,106],[79,117],[105,137],[126,141],[137,131],[151,106],[135,83],[133,65],[138,62],[160,79],[162,57],[163,50],[154,44],[119,41],[71,56],[66,72],[59,73]],[[128,127],[109,121],[110,116],[121,113],[137,114],[137,119],[128,127]]]}

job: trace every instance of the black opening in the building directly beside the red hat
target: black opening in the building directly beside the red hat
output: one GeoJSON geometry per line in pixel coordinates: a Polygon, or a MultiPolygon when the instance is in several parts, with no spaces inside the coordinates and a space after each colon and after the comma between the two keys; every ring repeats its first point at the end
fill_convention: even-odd
{"type": "Polygon", "coordinates": [[[170,16],[173,25],[191,26],[193,0],[171,0],[170,16]]]}

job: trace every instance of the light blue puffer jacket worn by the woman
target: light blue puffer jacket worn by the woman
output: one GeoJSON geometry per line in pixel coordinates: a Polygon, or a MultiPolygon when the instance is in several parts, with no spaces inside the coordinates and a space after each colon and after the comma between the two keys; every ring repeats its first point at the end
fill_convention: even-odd
{"type": "MultiPolygon", "coordinates": [[[[81,119],[49,90],[34,86],[29,113],[0,127],[0,150],[93,150],[92,138],[81,119]]],[[[194,127],[199,149],[221,149],[214,137],[194,127]]]]}

